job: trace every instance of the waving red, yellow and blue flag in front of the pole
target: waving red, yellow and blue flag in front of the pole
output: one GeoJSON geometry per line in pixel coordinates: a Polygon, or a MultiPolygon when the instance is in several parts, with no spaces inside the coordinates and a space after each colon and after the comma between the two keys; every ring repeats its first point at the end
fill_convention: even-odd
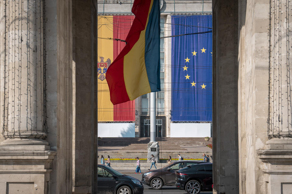
{"type": "Polygon", "coordinates": [[[160,91],[159,0],[135,0],[132,12],[127,45],[106,72],[114,105],[160,91]]]}

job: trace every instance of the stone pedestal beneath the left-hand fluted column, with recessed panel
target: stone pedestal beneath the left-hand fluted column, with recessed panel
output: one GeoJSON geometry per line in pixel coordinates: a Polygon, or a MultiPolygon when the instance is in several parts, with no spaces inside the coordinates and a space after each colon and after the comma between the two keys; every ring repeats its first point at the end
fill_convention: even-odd
{"type": "Polygon", "coordinates": [[[49,149],[47,145],[2,143],[0,193],[50,193],[51,164],[56,152],[49,149]]]}

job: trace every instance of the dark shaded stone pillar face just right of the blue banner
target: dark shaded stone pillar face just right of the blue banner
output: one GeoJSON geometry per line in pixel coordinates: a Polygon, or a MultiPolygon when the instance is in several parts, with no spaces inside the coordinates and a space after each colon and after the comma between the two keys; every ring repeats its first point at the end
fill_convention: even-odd
{"type": "Polygon", "coordinates": [[[238,193],[238,6],[213,1],[214,193],[238,193]]]}

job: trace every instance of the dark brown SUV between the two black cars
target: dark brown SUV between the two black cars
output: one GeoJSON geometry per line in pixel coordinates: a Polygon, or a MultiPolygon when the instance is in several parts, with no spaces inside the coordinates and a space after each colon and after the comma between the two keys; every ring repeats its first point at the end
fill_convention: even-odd
{"type": "Polygon", "coordinates": [[[142,174],[141,182],[151,186],[153,189],[161,189],[162,186],[173,186],[176,184],[176,170],[184,168],[188,165],[209,163],[196,160],[180,160],[173,162],[161,169],[150,170],[142,174]]]}

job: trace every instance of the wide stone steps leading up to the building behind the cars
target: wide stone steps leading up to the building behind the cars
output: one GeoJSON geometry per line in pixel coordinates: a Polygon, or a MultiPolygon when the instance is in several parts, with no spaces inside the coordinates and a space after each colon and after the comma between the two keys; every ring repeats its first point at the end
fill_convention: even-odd
{"type": "MultiPolygon", "coordinates": [[[[105,159],[108,155],[111,158],[147,158],[147,143],[149,141],[150,138],[101,138],[98,139],[98,155],[103,155],[105,159]]],[[[175,159],[178,158],[177,154],[179,153],[185,160],[187,158],[203,159],[202,155],[206,153],[206,155],[210,155],[210,162],[212,162],[212,150],[206,148],[207,144],[212,143],[212,138],[208,142],[204,138],[156,138],[156,141],[159,142],[160,146],[160,158],[171,156],[175,159]]],[[[112,160],[111,162],[111,166],[116,169],[134,168],[136,165],[136,160],[112,160]]],[[[166,161],[161,160],[161,162],[165,162],[165,164],[158,163],[157,166],[166,165],[166,161]]],[[[150,165],[141,160],[142,169],[149,168],[150,165]]]]}

